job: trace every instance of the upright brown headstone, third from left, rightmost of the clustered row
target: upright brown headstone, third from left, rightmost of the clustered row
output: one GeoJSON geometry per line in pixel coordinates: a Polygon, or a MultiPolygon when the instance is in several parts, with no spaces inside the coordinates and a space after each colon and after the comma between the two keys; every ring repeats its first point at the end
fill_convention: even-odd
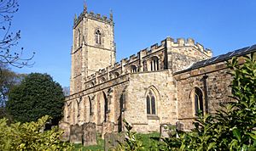
{"type": "Polygon", "coordinates": [[[95,123],[84,123],[84,146],[96,145],[96,124],[95,123]]]}

